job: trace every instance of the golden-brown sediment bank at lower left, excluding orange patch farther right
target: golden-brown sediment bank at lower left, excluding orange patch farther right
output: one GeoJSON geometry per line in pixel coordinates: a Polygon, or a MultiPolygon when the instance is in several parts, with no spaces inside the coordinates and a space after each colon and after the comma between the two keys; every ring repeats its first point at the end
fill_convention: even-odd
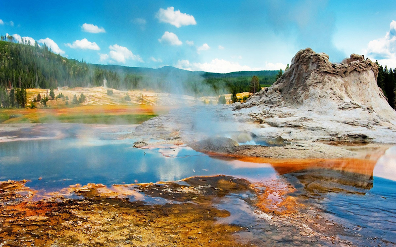
{"type": "Polygon", "coordinates": [[[250,246],[249,243],[240,243],[233,235],[243,230],[239,226],[216,223],[216,218],[227,217],[230,213],[210,203],[210,199],[215,197],[249,190],[246,180],[216,176],[189,178],[185,182],[190,186],[172,182],[136,185],[152,197],[175,197],[173,200],[178,202],[164,205],[130,202],[128,198],[121,198],[120,195],[127,193],[128,185],[114,186],[122,188],[122,193],[117,195],[104,185],[89,184],[70,188],[84,196],[82,200],[53,197],[1,206],[0,244],[3,247],[52,244],[250,246]],[[153,191],[156,193],[151,193],[153,191]]]}

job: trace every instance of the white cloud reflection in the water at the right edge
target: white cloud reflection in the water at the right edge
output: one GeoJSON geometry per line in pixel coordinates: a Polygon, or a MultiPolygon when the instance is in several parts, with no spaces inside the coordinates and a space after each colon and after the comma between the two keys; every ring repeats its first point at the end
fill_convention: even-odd
{"type": "Polygon", "coordinates": [[[378,160],[374,176],[396,181],[396,146],[389,148],[378,160]]]}

